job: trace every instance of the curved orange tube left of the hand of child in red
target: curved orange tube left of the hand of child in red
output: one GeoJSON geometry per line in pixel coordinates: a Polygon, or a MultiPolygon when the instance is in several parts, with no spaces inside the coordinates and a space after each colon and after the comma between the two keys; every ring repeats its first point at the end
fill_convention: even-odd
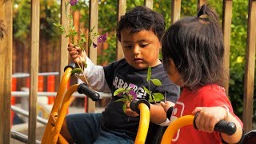
{"type": "Polygon", "coordinates": [[[170,144],[174,134],[183,126],[193,125],[194,115],[186,115],[171,122],[162,136],[161,144],[170,144]]]}

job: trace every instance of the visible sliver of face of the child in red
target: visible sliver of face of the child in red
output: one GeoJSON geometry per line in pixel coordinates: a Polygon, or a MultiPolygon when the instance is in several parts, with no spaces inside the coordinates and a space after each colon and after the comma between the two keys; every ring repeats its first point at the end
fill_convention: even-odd
{"type": "Polygon", "coordinates": [[[184,81],[182,76],[179,74],[174,61],[170,59],[169,61],[169,68],[170,70],[166,70],[168,72],[168,76],[172,82],[174,82],[176,85],[183,87],[184,86],[184,81]]]}

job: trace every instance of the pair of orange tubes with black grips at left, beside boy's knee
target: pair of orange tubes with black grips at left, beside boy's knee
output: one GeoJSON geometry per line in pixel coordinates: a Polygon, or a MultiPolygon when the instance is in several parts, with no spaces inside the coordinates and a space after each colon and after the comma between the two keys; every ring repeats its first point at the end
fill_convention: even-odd
{"type": "Polygon", "coordinates": [[[66,66],[63,74],[62,81],[60,83],[57,96],[54,100],[54,106],[50,112],[50,117],[46,124],[46,129],[42,137],[42,144],[49,143],[68,143],[65,138],[63,138],[60,131],[62,129],[62,124],[64,118],[66,116],[66,111],[70,106],[70,97],[75,92],[78,91],[80,94],[86,94],[93,101],[97,101],[99,99],[99,94],[91,90],[85,83],[80,85],[74,84],[70,86],[68,90],[66,90],[67,82],[71,76],[71,70],[74,69],[74,66],[66,66]],[[64,96],[64,92],[66,94],[64,96]]]}

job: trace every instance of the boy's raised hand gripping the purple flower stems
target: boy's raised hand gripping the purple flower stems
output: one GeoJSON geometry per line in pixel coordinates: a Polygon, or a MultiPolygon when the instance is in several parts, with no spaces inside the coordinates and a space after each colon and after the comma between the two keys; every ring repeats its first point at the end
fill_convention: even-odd
{"type": "Polygon", "coordinates": [[[69,51],[70,58],[72,58],[74,62],[81,63],[86,61],[86,52],[82,51],[80,47],[70,43],[67,50],[69,51]]]}

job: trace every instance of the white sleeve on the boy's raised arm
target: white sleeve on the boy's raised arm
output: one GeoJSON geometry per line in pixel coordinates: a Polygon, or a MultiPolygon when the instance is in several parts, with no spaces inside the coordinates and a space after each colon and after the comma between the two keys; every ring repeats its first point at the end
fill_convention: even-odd
{"type": "MultiPolygon", "coordinates": [[[[84,71],[84,75],[88,80],[88,85],[100,92],[110,92],[110,87],[108,86],[105,74],[102,66],[96,66],[93,62],[91,62],[90,58],[86,56],[86,70],[84,71]]],[[[76,76],[82,80],[82,82],[86,82],[83,74],[76,74],[76,76]]]]}

